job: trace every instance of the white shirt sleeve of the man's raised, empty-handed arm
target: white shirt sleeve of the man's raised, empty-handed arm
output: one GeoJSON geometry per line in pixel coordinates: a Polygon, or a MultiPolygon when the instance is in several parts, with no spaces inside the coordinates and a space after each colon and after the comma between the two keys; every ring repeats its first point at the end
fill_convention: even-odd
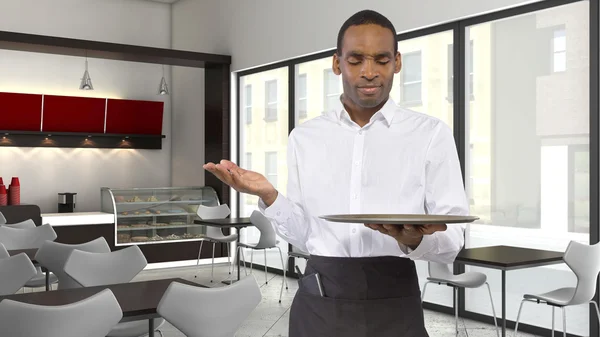
{"type": "Polygon", "coordinates": [[[287,197],[277,193],[277,198],[267,207],[262,199],[258,200],[258,209],[271,221],[277,234],[288,243],[308,251],[308,217],[302,206],[302,191],[298,175],[298,160],[294,144],[294,132],[290,134],[287,146],[288,184],[287,197]]]}

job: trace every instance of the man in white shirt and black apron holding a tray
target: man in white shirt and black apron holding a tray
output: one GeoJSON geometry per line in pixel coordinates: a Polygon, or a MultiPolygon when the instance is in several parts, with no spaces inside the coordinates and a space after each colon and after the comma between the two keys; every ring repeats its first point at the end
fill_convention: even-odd
{"type": "Polygon", "coordinates": [[[344,87],[340,109],[290,134],[287,196],[260,173],[230,161],[204,165],[237,191],[259,196],[278,234],[311,254],[292,303],[290,337],[427,336],[413,260],[452,263],[462,248],[462,226],[363,226],[319,218],[468,214],[449,127],[389,97],[401,69],[395,34],[392,23],[373,11],[356,13],[341,27],[333,55],[344,87]]]}

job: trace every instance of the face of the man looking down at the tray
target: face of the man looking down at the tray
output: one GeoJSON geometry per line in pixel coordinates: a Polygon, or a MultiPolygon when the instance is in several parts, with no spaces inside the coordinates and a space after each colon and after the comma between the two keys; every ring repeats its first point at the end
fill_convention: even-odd
{"type": "Polygon", "coordinates": [[[333,71],[342,75],[344,97],[358,108],[384,103],[392,89],[394,74],[402,67],[394,54],[392,32],[374,24],[350,26],[344,34],[342,55],[333,56],[333,71]]]}

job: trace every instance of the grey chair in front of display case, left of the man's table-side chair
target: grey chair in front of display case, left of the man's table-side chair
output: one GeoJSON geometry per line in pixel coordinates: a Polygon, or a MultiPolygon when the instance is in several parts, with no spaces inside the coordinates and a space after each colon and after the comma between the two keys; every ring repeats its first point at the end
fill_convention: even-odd
{"type": "MultiPolygon", "coordinates": [[[[198,206],[198,210],[196,214],[200,217],[200,219],[225,219],[231,210],[227,204],[222,204],[216,207],[208,207],[204,205],[198,206]]],[[[238,238],[237,234],[223,235],[221,228],[206,226],[206,235],[200,241],[200,249],[198,250],[198,261],[196,261],[196,266],[200,265],[200,253],[202,252],[202,244],[204,241],[211,242],[213,244],[213,255],[212,255],[212,264],[210,270],[210,282],[213,281],[214,271],[215,271],[215,244],[216,243],[227,243],[227,262],[231,264],[231,259],[229,257],[229,252],[231,251],[231,243],[236,241],[238,238]]],[[[231,272],[229,272],[231,274],[231,272]]],[[[194,275],[196,277],[197,275],[194,275]]]]}

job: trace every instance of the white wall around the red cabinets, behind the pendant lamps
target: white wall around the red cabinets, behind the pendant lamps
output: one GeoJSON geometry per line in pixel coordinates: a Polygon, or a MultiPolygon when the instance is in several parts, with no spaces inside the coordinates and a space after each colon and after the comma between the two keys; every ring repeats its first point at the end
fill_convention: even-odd
{"type": "MultiPolygon", "coordinates": [[[[0,1],[5,31],[170,48],[170,28],[170,5],[149,1],[0,1]]],[[[91,92],[78,90],[83,71],[83,58],[0,50],[0,91],[164,101],[167,138],[162,150],[0,148],[0,176],[18,176],[21,202],[42,212],[56,212],[58,192],[77,192],[78,211],[92,211],[102,186],[171,183],[171,97],[156,94],[161,66],[89,59],[91,92]]]]}

